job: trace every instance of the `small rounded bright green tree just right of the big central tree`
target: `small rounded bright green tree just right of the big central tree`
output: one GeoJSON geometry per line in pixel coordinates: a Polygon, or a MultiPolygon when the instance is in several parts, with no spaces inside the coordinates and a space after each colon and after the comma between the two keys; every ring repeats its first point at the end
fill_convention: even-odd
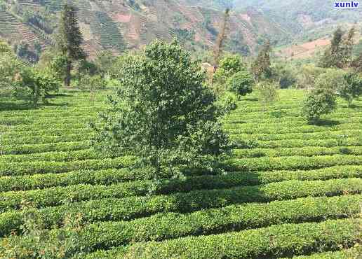
{"type": "Polygon", "coordinates": [[[253,76],[246,70],[239,71],[227,80],[227,89],[235,92],[239,96],[244,96],[253,92],[253,76]]]}

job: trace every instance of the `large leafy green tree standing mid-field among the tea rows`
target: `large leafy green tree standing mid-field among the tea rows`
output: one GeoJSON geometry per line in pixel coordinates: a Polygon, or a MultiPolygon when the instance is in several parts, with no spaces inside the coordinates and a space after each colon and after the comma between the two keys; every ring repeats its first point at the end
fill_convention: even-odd
{"type": "Polygon", "coordinates": [[[205,73],[177,43],[156,41],[144,55],[125,57],[112,109],[95,128],[95,148],[130,153],[154,178],[208,166],[229,151],[205,73]]]}

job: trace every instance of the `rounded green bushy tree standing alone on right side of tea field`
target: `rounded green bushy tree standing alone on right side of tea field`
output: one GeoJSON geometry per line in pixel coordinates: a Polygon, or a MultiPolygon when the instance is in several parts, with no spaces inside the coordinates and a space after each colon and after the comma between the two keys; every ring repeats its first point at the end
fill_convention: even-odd
{"type": "Polygon", "coordinates": [[[335,99],[333,89],[318,87],[311,90],[303,104],[304,116],[309,122],[319,120],[322,115],[331,113],[336,108],[335,99]]]}

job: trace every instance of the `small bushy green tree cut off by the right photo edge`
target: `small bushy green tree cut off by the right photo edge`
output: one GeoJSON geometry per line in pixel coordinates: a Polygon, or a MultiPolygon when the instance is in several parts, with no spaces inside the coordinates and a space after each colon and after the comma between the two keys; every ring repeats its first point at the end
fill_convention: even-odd
{"type": "Polygon", "coordinates": [[[344,84],[338,85],[338,93],[351,106],[352,100],[362,94],[362,77],[355,72],[349,72],[344,76],[344,80],[344,84]]]}

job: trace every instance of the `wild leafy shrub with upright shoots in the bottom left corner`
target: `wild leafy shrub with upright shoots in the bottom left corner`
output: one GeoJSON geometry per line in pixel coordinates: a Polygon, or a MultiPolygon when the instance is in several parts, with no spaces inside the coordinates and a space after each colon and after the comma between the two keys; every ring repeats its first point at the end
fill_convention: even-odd
{"type": "Polygon", "coordinates": [[[56,235],[46,230],[41,214],[29,204],[22,207],[22,216],[21,235],[13,233],[1,239],[1,258],[69,258],[83,254],[77,244],[82,228],[81,214],[65,216],[63,228],[59,228],[56,235]]]}

